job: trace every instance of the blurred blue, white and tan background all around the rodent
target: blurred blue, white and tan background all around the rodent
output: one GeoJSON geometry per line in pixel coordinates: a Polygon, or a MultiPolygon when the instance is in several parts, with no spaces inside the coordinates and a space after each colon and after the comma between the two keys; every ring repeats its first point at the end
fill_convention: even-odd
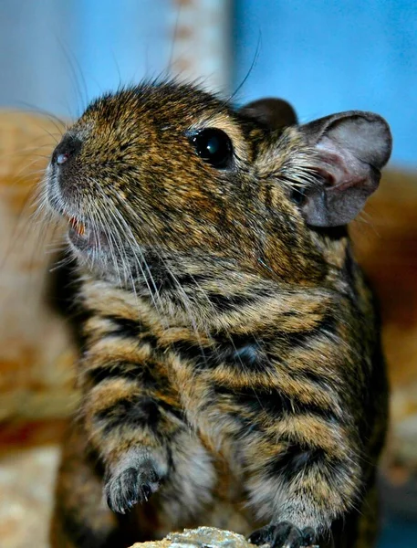
{"type": "Polygon", "coordinates": [[[380,295],[392,385],[379,548],[416,545],[416,68],[415,0],[0,0],[1,546],[47,546],[57,441],[78,398],[49,298],[61,234],[30,220],[29,196],[61,119],[169,76],[236,104],[283,97],[300,121],[369,110],[391,124],[391,169],[352,235],[380,295]]]}

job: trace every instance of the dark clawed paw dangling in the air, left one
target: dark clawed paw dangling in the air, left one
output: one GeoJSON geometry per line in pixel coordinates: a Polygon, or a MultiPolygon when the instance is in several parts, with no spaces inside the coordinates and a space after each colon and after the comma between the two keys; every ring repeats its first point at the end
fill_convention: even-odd
{"type": "Polygon", "coordinates": [[[151,460],[140,465],[116,469],[109,474],[104,487],[104,494],[109,509],[126,513],[138,502],[146,502],[160,487],[161,477],[154,469],[151,460]]]}

